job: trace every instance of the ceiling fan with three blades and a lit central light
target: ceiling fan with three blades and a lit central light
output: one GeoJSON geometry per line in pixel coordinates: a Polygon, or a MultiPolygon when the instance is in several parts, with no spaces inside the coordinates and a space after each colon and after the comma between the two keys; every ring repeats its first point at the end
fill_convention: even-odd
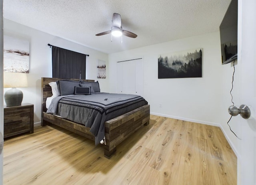
{"type": "Polygon", "coordinates": [[[110,31],[104,31],[102,33],[96,34],[96,36],[106,35],[111,33],[115,37],[125,35],[127,37],[136,38],[137,35],[127,30],[123,30],[121,26],[122,20],[120,14],[114,13],[112,18],[112,27],[110,31]]]}

